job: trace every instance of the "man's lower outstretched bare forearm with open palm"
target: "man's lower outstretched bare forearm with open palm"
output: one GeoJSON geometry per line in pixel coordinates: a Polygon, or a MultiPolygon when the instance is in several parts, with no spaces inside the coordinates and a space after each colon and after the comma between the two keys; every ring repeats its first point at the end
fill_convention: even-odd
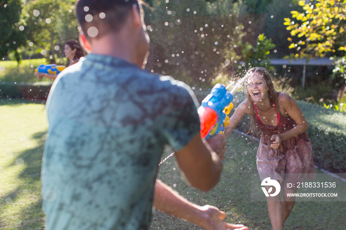
{"type": "Polygon", "coordinates": [[[160,211],[190,221],[206,230],[248,229],[244,225],[223,222],[226,215],[224,212],[211,205],[199,206],[191,203],[160,180],[156,180],[155,183],[154,206],[160,211]]]}

